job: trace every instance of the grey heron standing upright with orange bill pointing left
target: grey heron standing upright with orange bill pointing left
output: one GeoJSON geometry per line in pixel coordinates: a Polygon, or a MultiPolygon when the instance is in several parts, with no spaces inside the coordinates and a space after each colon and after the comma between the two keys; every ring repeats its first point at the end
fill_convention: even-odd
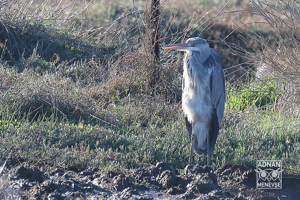
{"type": "Polygon", "coordinates": [[[217,52],[202,38],[164,46],[185,51],[182,77],[182,109],[193,149],[207,154],[207,165],[214,150],[224,114],[225,79],[217,52]]]}

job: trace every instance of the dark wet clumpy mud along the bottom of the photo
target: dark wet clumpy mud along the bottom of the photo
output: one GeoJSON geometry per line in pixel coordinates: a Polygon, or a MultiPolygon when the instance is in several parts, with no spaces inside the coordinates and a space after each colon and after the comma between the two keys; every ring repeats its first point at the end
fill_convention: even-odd
{"type": "Polygon", "coordinates": [[[253,166],[211,168],[188,165],[180,174],[168,163],[128,173],[35,167],[6,168],[0,199],[300,199],[300,176],[282,174],[282,189],[256,189],[253,166]]]}

